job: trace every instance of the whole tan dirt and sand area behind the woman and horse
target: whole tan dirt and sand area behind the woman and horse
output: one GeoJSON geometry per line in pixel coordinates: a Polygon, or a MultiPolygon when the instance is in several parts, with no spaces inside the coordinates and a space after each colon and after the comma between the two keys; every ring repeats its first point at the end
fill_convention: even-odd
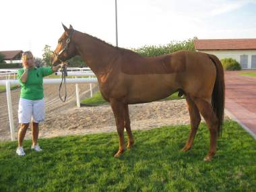
{"type": "MultiPolygon", "coordinates": [[[[88,90],[89,86],[79,85],[80,93],[88,90]]],[[[46,98],[46,119],[40,123],[39,137],[56,137],[64,135],[81,135],[88,133],[102,133],[116,131],[115,118],[109,104],[102,106],[75,107],[75,85],[69,85],[67,102],[59,100],[59,86],[44,86],[46,98]]],[[[95,90],[98,87],[94,88],[95,90]]],[[[15,131],[18,130],[18,99],[20,90],[13,90],[13,115],[15,131]]],[[[89,96],[88,92],[87,96],[89,96]]],[[[80,94],[85,98],[86,94],[80,94]]],[[[7,116],[7,101],[5,93],[0,94],[1,119],[0,141],[10,140],[9,120],[7,116]],[[2,102],[3,100],[3,102],[2,102]]],[[[189,113],[185,100],[156,101],[144,104],[129,105],[131,129],[152,129],[164,125],[189,124],[189,113]]],[[[228,119],[228,117],[225,117],[228,119]]],[[[17,133],[15,134],[17,139],[17,133]]],[[[25,139],[32,138],[32,131],[28,129],[25,139]]]]}

